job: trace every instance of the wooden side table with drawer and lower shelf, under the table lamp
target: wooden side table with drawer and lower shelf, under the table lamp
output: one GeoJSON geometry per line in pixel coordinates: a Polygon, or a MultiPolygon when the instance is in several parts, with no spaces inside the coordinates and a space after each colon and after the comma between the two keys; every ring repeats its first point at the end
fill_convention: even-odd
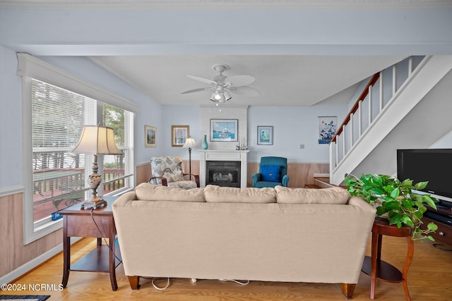
{"type": "Polygon", "coordinates": [[[61,281],[61,284],[64,288],[69,281],[69,271],[97,271],[109,273],[112,290],[118,289],[115,269],[121,263],[121,252],[119,252],[119,247],[115,243],[117,231],[112,211],[112,203],[116,198],[104,197],[107,201],[107,207],[95,209],[93,212],[90,209],[81,209],[80,204],[61,210],[64,247],[63,281],[61,281]],[[95,250],[72,266],[71,237],[97,238],[95,250]],[[108,238],[109,246],[102,245],[102,238],[108,238]]]}

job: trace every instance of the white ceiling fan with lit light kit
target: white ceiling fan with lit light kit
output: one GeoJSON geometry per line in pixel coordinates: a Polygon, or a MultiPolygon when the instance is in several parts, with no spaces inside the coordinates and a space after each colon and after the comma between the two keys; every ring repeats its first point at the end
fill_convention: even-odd
{"type": "Polygon", "coordinates": [[[223,64],[214,65],[212,68],[219,73],[214,76],[212,80],[209,80],[208,78],[201,78],[196,75],[186,75],[194,80],[210,84],[209,87],[188,90],[181,92],[181,94],[213,90],[210,100],[217,103],[227,102],[230,100],[232,98],[230,93],[246,97],[257,97],[261,94],[258,90],[247,86],[255,80],[255,78],[251,75],[225,76],[222,73],[228,69],[228,66],[223,64]]]}

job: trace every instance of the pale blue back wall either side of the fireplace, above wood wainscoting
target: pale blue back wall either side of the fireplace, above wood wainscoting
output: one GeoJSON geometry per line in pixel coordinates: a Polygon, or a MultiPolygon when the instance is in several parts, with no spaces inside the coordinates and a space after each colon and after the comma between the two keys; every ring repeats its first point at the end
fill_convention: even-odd
{"type": "MultiPolygon", "coordinates": [[[[165,144],[161,154],[180,155],[188,159],[189,154],[182,147],[171,147],[171,125],[189,125],[190,135],[197,147],[191,159],[198,160],[196,149],[202,148],[201,108],[198,106],[162,106],[162,130],[159,135],[165,144]]],[[[261,156],[285,156],[290,162],[327,163],[328,145],[319,145],[318,116],[338,116],[342,123],[347,115],[347,104],[319,104],[316,106],[250,106],[248,109],[248,160],[258,162],[261,156]],[[273,145],[257,145],[257,126],[273,125],[273,145]],[[304,149],[299,145],[304,144],[304,149]]],[[[218,142],[220,143],[220,142],[218,142]]],[[[230,148],[230,147],[229,147],[230,148]]],[[[148,159],[150,159],[149,154],[148,159]]]]}

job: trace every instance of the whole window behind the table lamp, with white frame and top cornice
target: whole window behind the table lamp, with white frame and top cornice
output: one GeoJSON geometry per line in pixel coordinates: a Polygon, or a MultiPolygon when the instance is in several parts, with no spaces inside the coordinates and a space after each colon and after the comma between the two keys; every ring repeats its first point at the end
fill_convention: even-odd
{"type": "Polygon", "coordinates": [[[28,54],[18,54],[23,76],[24,243],[61,228],[50,214],[90,197],[94,156],[73,154],[83,125],[113,128],[120,156],[99,155],[99,195],[133,188],[133,102],[83,82],[28,54]],[[88,95],[88,96],[87,96],[88,95]],[[102,102],[102,100],[104,102],[102,102]]]}

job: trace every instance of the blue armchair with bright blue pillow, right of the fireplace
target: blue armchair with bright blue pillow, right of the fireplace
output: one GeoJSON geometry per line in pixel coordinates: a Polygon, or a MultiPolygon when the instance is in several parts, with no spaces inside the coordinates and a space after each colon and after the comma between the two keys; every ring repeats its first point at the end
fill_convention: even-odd
{"type": "Polygon", "coordinates": [[[277,185],[287,187],[287,158],[280,156],[263,156],[259,165],[259,172],[251,176],[253,187],[275,187],[277,185]]]}

